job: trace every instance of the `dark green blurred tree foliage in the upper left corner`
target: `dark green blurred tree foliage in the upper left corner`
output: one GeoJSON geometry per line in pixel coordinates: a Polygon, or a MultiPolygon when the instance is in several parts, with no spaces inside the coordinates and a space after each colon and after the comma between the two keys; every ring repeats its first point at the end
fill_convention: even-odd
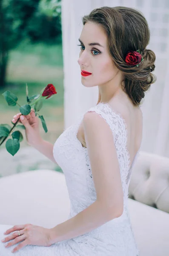
{"type": "Polygon", "coordinates": [[[0,0],[0,87],[5,86],[9,51],[26,38],[61,43],[60,0],[0,0]]]}

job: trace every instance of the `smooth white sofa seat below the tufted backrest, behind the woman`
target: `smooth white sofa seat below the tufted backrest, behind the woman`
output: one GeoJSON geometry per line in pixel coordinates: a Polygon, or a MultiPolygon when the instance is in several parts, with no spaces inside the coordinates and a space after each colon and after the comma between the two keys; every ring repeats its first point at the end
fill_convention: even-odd
{"type": "Polygon", "coordinates": [[[168,256],[169,213],[130,198],[128,205],[140,256],[168,256]]]}

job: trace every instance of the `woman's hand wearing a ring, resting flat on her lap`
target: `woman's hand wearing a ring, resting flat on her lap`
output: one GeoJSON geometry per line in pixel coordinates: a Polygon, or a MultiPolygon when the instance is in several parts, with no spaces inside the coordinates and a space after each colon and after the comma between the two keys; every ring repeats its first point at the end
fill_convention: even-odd
{"type": "Polygon", "coordinates": [[[39,246],[52,245],[51,237],[50,237],[51,229],[48,229],[48,228],[44,228],[44,227],[40,227],[32,224],[16,225],[14,227],[11,227],[4,234],[8,235],[11,232],[14,232],[14,233],[7,236],[3,241],[3,242],[10,241],[8,244],[6,244],[6,247],[9,247],[11,245],[17,244],[18,242],[21,242],[14,248],[12,252],[17,252],[27,244],[39,245],[39,246]],[[20,236],[17,230],[20,231],[20,236]]]}

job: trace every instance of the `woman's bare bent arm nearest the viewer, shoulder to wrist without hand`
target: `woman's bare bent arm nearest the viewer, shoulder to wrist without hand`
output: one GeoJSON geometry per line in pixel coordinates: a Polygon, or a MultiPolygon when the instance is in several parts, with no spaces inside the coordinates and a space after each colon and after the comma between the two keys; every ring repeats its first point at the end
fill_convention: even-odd
{"type": "Polygon", "coordinates": [[[73,218],[53,227],[52,243],[81,236],[123,213],[123,188],[112,130],[93,112],[84,115],[83,127],[97,199],[73,218]]]}

